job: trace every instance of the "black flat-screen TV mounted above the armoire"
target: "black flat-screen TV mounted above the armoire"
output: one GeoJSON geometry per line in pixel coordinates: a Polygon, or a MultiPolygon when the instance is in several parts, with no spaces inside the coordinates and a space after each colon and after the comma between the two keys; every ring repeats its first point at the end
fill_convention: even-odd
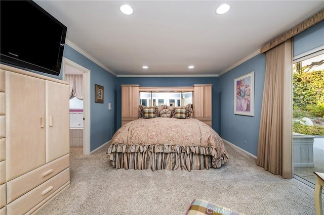
{"type": "Polygon", "coordinates": [[[59,75],[67,28],[33,1],[0,1],[0,61],[59,75]]]}

